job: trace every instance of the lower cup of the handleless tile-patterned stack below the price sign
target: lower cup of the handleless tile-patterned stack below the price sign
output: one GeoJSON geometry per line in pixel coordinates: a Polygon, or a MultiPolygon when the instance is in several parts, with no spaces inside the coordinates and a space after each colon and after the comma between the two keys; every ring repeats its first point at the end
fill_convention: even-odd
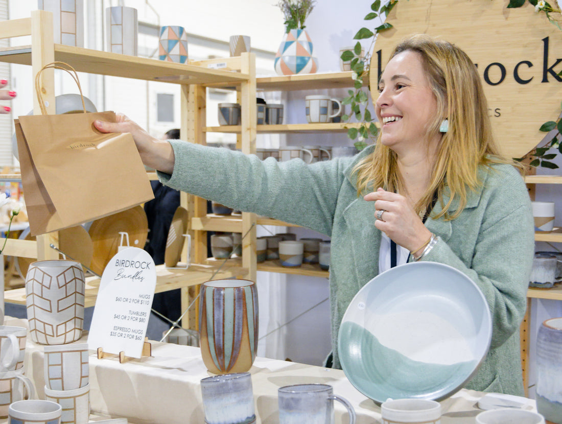
{"type": "Polygon", "coordinates": [[[61,424],[86,424],[90,417],[90,385],[75,390],[51,390],[45,386],[45,400],[61,405],[61,424]]]}

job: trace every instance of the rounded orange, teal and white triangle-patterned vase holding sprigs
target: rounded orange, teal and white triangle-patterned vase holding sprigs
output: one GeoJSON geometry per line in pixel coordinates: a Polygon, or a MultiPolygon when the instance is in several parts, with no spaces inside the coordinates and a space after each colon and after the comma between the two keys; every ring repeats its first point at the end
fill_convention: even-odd
{"type": "Polygon", "coordinates": [[[314,74],[318,71],[318,59],[312,57],[312,42],[306,30],[292,29],[283,34],[274,64],[279,75],[314,74]]]}

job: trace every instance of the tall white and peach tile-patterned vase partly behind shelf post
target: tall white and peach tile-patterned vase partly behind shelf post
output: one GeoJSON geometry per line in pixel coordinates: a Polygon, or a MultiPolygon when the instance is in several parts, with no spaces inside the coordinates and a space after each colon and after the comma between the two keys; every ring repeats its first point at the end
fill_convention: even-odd
{"type": "Polygon", "coordinates": [[[53,41],[84,47],[83,0],[38,0],[37,8],[53,13],[53,41]]]}

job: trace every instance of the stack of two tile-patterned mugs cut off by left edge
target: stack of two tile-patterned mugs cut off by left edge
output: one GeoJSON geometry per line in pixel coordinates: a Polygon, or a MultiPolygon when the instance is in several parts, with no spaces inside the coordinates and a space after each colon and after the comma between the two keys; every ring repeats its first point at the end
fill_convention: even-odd
{"type": "Polygon", "coordinates": [[[0,326],[0,418],[8,417],[12,402],[34,397],[31,381],[24,376],[24,327],[0,326]]]}

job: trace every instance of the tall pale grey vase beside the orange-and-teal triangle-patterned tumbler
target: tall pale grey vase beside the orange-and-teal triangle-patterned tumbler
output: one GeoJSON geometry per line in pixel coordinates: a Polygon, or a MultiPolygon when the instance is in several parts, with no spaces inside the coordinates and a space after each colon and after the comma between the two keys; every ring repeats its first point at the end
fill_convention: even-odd
{"type": "Polygon", "coordinates": [[[106,51],[137,56],[137,9],[126,6],[106,8],[106,51]]]}

